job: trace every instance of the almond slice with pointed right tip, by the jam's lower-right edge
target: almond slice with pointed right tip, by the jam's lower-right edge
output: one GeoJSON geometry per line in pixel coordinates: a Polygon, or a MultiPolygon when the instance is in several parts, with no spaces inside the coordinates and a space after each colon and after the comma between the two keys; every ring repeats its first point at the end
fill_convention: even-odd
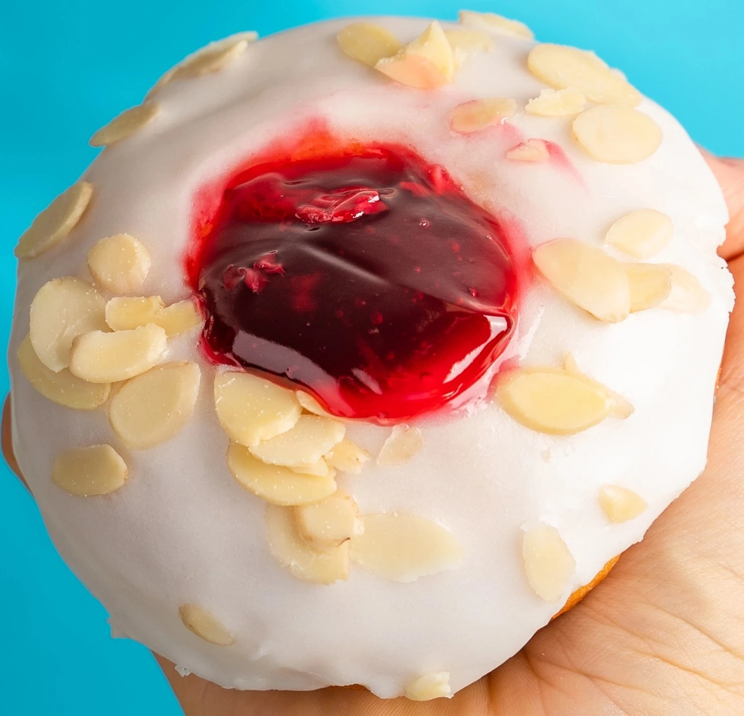
{"type": "Polygon", "coordinates": [[[627,417],[632,407],[618,398],[586,375],[561,368],[519,368],[496,381],[498,404],[516,422],[549,435],[580,433],[611,415],[627,417]]]}

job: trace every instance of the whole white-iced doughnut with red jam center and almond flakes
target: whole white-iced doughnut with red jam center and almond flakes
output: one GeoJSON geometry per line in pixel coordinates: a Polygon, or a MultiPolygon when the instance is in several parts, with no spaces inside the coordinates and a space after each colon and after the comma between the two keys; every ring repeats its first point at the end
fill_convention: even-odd
{"type": "Polygon", "coordinates": [[[594,54],[477,13],[240,33],[92,143],[16,248],[13,444],[182,673],[449,696],[702,471],[725,204],[594,54]]]}

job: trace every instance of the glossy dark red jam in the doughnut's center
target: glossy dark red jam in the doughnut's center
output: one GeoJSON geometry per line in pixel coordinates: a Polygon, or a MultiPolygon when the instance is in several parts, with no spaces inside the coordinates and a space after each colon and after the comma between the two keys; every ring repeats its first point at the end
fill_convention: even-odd
{"type": "Polygon", "coordinates": [[[253,167],[202,233],[208,353],[301,384],[336,416],[443,407],[516,320],[501,225],[405,149],[253,167]]]}

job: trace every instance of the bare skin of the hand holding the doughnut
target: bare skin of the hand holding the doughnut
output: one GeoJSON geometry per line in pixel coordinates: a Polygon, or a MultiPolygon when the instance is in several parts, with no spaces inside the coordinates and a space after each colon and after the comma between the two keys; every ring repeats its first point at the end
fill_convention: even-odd
{"type": "MultiPolygon", "coordinates": [[[[706,159],[731,212],[720,254],[744,293],[744,161],[706,159]]],[[[451,700],[383,701],[354,687],[232,691],[158,661],[186,716],[743,714],[743,444],[744,301],[731,317],[705,473],[586,599],[451,700]]]]}

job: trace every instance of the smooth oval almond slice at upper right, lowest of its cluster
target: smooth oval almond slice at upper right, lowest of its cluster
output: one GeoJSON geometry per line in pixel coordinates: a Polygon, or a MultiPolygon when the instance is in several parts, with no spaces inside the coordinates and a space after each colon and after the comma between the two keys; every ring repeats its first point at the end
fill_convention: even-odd
{"type": "Polygon", "coordinates": [[[664,138],[649,115],[619,105],[582,112],[573,132],[587,154],[606,164],[638,164],[654,154],[664,138]]]}

